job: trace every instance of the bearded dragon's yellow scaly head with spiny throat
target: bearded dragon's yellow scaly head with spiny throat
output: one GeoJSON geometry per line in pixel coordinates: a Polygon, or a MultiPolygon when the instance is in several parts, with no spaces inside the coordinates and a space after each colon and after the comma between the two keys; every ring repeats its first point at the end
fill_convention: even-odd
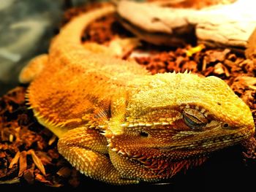
{"type": "Polygon", "coordinates": [[[178,162],[191,164],[189,158],[203,159],[255,131],[249,107],[218,77],[166,73],[138,81],[108,130],[116,166],[133,164],[139,172],[170,177],[178,162]]]}

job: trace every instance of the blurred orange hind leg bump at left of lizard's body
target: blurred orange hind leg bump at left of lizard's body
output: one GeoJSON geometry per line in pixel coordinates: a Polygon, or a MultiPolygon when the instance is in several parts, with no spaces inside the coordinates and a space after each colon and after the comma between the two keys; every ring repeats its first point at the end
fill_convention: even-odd
{"type": "Polygon", "coordinates": [[[33,58],[29,61],[29,64],[23,67],[19,75],[19,81],[21,83],[29,83],[34,80],[37,75],[42,72],[44,69],[45,64],[48,63],[48,55],[42,54],[38,55],[37,57],[33,58]]]}

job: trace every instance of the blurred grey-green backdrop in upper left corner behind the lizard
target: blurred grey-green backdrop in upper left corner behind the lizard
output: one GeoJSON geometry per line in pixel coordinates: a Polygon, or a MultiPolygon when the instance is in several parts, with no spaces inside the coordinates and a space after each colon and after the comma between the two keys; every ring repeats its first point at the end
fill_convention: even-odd
{"type": "Polygon", "coordinates": [[[47,53],[64,11],[87,1],[0,0],[0,96],[18,85],[18,74],[31,58],[47,53]]]}

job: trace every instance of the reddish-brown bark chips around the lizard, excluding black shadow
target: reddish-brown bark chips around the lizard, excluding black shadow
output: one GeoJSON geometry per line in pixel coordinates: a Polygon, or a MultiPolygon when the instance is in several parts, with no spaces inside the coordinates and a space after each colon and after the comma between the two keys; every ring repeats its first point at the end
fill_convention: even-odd
{"type": "MultiPolygon", "coordinates": [[[[64,23],[80,12],[98,6],[101,5],[70,9],[64,23]]],[[[92,23],[83,40],[105,43],[116,35],[121,38],[132,36],[121,27],[115,15],[109,15],[92,23]]],[[[151,50],[151,55],[134,58],[152,74],[189,70],[222,78],[248,104],[256,122],[256,64],[244,55],[229,49],[210,50],[203,45],[159,48],[146,42],[142,42],[137,50],[151,50]]],[[[0,183],[77,187],[83,175],[59,155],[56,137],[34,118],[26,105],[25,94],[26,85],[20,85],[0,98],[0,183]]]]}

